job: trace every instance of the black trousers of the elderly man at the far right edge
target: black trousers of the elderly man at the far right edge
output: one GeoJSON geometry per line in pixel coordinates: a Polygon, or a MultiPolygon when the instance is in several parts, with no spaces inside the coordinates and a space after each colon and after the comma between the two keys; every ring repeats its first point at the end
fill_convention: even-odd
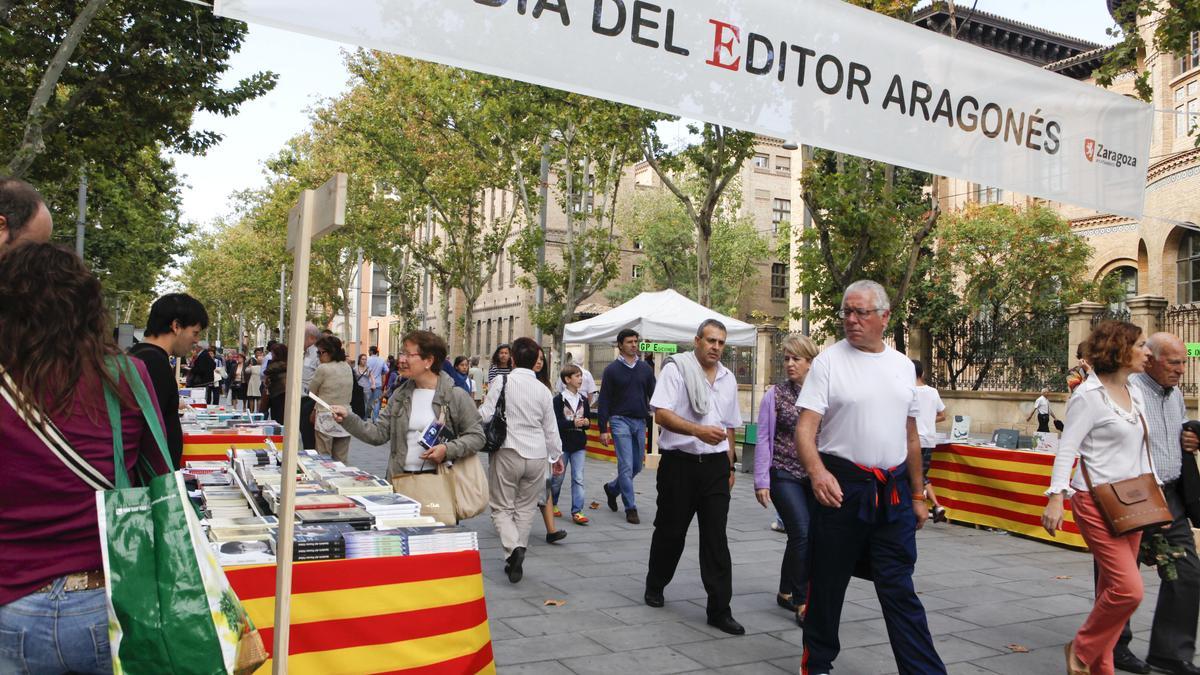
{"type": "MultiPolygon", "coordinates": [[[[1160,581],[1158,604],[1154,605],[1154,622],[1150,629],[1150,656],[1192,663],[1196,652],[1196,621],[1200,619],[1200,558],[1196,557],[1195,536],[1183,510],[1182,484],[1172,480],[1163,485],[1166,506],[1175,520],[1164,534],[1175,546],[1183,546],[1188,555],[1175,561],[1180,578],[1160,581]]],[[[1146,537],[1148,534],[1144,534],[1146,537]]],[[[1133,631],[1126,623],[1117,647],[1129,647],[1133,631]]]]}

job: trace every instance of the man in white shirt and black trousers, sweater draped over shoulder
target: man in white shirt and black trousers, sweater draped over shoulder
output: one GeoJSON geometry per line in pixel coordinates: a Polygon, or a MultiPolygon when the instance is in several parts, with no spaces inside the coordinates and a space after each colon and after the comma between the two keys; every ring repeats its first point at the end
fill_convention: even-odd
{"type": "Polygon", "coordinates": [[[745,628],[733,620],[733,563],[725,524],[733,489],[733,430],[742,426],[738,383],[721,365],[727,330],[708,319],[696,330],[696,350],[671,357],[650,398],[662,426],[659,448],[658,515],[646,574],[646,604],[662,607],[662,590],[674,577],[692,516],[700,519],[700,577],[708,592],[708,623],[732,635],[745,628]]]}

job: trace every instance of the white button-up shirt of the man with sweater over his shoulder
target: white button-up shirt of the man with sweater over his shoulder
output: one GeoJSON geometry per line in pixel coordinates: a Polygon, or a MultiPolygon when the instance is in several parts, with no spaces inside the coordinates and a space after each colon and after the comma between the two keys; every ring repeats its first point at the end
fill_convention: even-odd
{"type": "MultiPolygon", "coordinates": [[[[650,396],[652,408],[665,408],[694,424],[737,429],[742,426],[742,410],[738,407],[738,383],[730,369],[716,364],[716,378],[708,386],[708,414],[700,417],[691,410],[688,387],[684,384],[679,366],[668,363],[662,366],[659,381],[650,396]]],[[[710,446],[695,436],[676,434],[662,428],[659,447],[682,450],[694,455],[730,452],[728,441],[710,446]]]]}

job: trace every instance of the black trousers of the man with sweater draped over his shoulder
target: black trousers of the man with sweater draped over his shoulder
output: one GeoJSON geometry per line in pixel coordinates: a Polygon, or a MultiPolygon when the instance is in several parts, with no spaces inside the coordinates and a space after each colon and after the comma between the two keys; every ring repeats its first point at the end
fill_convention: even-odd
{"type": "Polygon", "coordinates": [[[730,516],[730,455],[662,450],[658,471],[659,513],[650,538],[646,590],[661,592],[674,577],[692,516],[700,519],[700,578],[708,592],[708,617],[731,615],[733,562],[725,525],[730,516]]]}

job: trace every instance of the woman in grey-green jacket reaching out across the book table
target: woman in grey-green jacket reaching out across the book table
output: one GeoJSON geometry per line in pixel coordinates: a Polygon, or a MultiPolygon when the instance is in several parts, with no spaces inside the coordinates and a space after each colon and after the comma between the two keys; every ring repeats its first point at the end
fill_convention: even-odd
{"type": "Polygon", "coordinates": [[[400,375],[407,380],[388,400],[378,422],[364,422],[344,406],[334,406],[334,419],[355,438],[372,446],[390,442],[388,478],[394,485],[398,477],[436,473],[437,465],[473,455],[484,447],[475,402],[442,372],[445,359],[445,340],[428,330],[414,330],[404,336],[397,359],[400,375]],[[434,423],[445,430],[425,448],[421,437],[434,423]]]}

